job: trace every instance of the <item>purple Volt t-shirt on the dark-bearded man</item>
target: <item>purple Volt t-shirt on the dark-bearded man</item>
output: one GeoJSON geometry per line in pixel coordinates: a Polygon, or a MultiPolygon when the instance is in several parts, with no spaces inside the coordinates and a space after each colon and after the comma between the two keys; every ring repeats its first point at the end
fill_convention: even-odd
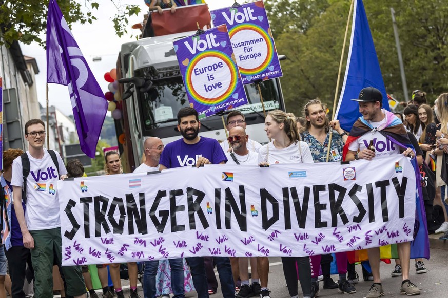
{"type": "Polygon", "coordinates": [[[217,140],[201,137],[199,142],[193,145],[185,143],[183,138],[167,144],[159,163],[167,168],[194,165],[201,156],[212,164],[227,162],[227,157],[217,140]]]}

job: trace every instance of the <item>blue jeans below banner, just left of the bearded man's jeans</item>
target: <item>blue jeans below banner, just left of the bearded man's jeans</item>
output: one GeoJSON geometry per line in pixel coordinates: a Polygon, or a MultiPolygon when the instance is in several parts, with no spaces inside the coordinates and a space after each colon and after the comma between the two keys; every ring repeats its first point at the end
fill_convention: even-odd
{"type": "MultiPolygon", "coordinates": [[[[169,259],[169,266],[171,267],[171,289],[174,298],[185,297],[184,289],[184,264],[182,258],[169,259]]],[[[159,268],[159,261],[145,262],[145,272],[143,273],[143,295],[145,298],[155,298],[155,275],[159,268]]]]}

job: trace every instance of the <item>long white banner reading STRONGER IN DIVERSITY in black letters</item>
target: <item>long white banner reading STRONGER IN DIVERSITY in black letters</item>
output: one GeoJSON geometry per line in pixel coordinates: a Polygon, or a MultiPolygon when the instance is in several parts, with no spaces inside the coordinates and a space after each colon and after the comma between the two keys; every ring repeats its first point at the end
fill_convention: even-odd
{"type": "Polygon", "coordinates": [[[411,241],[415,185],[403,155],[61,181],[63,265],[310,256],[411,241]]]}

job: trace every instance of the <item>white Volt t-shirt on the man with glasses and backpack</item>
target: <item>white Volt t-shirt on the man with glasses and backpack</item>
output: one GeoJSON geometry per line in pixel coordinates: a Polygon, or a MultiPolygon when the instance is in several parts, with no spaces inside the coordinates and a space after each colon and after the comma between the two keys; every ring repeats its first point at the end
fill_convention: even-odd
{"type": "MultiPolygon", "coordinates": [[[[44,148],[44,157],[36,159],[27,151],[30,159],[30,174],[27,177],[27,209],[25,220],[28,230],[47,230],[61,226],[59,196],[56,182],[59,176],[67,175],[64,161],[56,152],[59,162],[59,176],[56,165],[44,148]]],[[[12,162],[12,186],[23,187],[22,159],[12,162]]]]}

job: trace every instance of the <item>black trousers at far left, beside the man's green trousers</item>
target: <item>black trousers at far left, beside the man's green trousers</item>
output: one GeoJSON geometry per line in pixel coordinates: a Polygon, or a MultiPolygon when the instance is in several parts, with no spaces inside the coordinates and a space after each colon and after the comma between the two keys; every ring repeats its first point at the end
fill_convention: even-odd
{"type": "Polygon", "coordinates": [[[32,277],[34,278],[33,267],[31,265],[31,252],[25,246],[12,246],[9,250],[5,249],[6,259],[8,259],[9,276],[11,277],[12,298],[25,298],[25,292],[23,291],[23,285],[26,276],[26,264],[31,270],[32,277]]]}

